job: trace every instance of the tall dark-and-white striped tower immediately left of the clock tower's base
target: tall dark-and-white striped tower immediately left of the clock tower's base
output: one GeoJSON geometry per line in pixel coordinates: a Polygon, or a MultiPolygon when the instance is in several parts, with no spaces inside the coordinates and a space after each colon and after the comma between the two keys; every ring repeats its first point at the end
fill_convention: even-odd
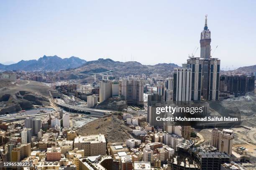
{"type": "Polygon", "coordinates": [[[187,64],[192,72],[191,100],[201,100],[202,65],[204,60],[197,57],[190,57],[187,64]]]}

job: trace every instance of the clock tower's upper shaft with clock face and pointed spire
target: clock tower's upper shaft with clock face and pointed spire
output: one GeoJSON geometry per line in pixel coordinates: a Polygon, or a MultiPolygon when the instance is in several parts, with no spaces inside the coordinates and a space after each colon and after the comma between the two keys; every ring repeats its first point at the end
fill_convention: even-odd
{"type": "Polygon", "coordinates": [[[201,32],[201,39],[200,39],[200,58],[210,58],[211,54],[211,32],[207,27],[207,15],[205,15],[205,27],[204,30],[201,32]]]}

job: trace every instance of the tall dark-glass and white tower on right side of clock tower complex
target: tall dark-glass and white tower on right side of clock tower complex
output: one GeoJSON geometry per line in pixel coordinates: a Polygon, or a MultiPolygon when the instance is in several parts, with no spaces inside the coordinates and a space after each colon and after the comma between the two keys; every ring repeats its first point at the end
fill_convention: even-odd
{"type": "Polygon", "coordinates": [[[203,97],[205,100],[219,100],[220,60],[208,58],[203,64],[203,97]]]}

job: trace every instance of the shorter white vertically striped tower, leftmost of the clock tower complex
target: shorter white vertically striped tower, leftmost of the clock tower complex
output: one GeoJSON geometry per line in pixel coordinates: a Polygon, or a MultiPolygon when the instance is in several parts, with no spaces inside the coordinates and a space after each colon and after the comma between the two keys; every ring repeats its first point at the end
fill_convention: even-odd
{"type": "Polygon", "coordinates": [[[187,68],[174,69],[173,100],[178,102],[191,100],[191,70],[187,68]]]}

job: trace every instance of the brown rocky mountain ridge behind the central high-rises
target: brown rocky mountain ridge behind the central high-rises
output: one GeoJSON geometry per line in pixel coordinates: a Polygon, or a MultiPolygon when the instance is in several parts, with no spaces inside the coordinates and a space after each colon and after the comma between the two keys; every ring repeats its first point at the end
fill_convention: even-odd
{"type": "MultiPolygon", "coordinates": [[[[179,67],[173,63],[159,63],[156,65],[142,65],[136,61],[120,62],[111,59],[98,59],[88,61],[80,67],[74,69],[63,70],[63,74],[78,75],[79,78],[86,78],[94,73],[108,73],[113,77],[121,77],[125,75],[151,75],[161,74],[170,76],[175,67],[179,67]]],[[[77,78],[78,78],[77,77],[77,78]]],[[[91,77],[91,76],[90,76],[91,77]]]]}

